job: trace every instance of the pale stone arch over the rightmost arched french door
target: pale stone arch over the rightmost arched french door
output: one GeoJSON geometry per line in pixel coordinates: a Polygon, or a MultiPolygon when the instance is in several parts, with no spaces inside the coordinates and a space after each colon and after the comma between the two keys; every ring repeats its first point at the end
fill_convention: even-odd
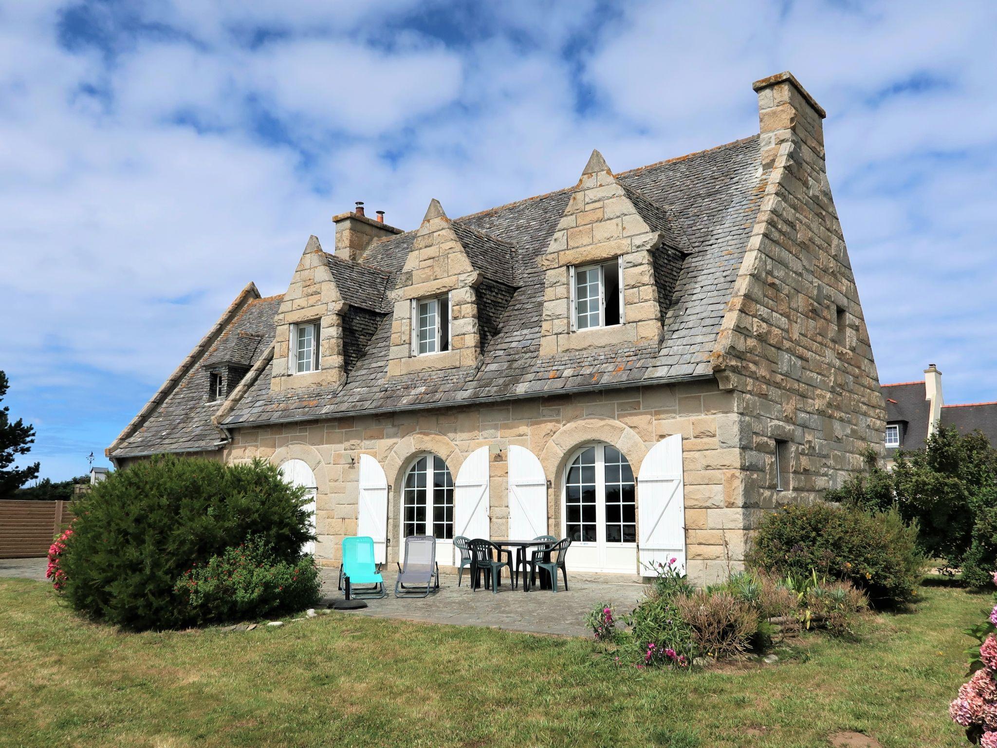
{"type": "Polygon", "coordinates": [[[584,444],[604,442],[618,449],[634,475],[640,471],[647,446],[637,432],[613,418],[589,417],[565,424],[547,441],[540,464],[547,476],[547,523],[555,535],[561,526],[561,484],[568,459],[584,444]]]}

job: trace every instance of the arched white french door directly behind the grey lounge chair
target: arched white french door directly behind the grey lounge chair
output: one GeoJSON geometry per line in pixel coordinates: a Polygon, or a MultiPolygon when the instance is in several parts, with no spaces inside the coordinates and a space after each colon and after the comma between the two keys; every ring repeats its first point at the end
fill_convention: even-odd
{"type": "Polygon", "coordinates": [[[409,536],[431,535],[437,539],[437,561],[454,562],[454,478],[443,458],[421,455],[406,471],[401,522],[403,544],[409,536]]]}

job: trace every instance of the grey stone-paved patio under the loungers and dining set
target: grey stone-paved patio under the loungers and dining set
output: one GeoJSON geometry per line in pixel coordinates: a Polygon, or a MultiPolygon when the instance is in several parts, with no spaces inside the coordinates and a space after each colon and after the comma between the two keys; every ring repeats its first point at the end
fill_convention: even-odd
{"type": "MultiPolygon", "coordinates": [[[[440,589],[429,597],[399,598],[391,590],[395,587],[397,568],[383,572],[388,596],[365,599],[367,607],[343,611],[349,615],[371,615],[382,618],[400,618],[421,623],[451,623],[464,626],[489,626],[510,631],[556,634],[560,636],[587,636],[585,615],[600,602],[612,602],[620,609],[629,610],[643,593],[642,584],[620,581],[574,580],[568,577],[569,589],[551,592],[549,589],[532,588],[523,592],[522,587],[511,589],[507,577],[502,578],[498,593],[491,589],[472,591],[470,574],[464,573],[462,586],[457,585],[457,574],[441,574],[440,589]]],[[[339,570],[322,569],[322,604],[343,599],[343,592],[336,589],[339,570]]]]}

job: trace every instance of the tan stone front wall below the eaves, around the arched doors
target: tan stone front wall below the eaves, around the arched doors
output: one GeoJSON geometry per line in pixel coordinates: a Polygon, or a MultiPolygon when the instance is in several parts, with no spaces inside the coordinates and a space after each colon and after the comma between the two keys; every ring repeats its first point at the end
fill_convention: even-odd
{"type": "MultiPolygon", "coordinates": [[[[416,455],[443,457],[454,477],[476,449],[492,447],[492,536],[507,532],[507,447],[529,449],[546,473],[547,516],[561,530],[561,483],[566,462],[592,441],[615,445],[636,474],[647,450],[671,434],[683,436],[685,503],[690,575],[716,578],[727,565],[721,529],[740,516],[738,449],[741,420],[732,412],[735,396],[713,380],[674,386],[607,389],[510,401],[488,407],[409,411],[239,429],[225,449],[227,461],[262,457],[277,464],[302,459],[319,480],[316,556],[338,564],[340,542],[355,535],[360,454],[376,458],[388,476],[389,561],[399,548],[398,488],[416,455]],[[316,469],[318,468],[318,470],[316,469]]],[[[638,494],[638,502],[639,494],[638,494]]]]}

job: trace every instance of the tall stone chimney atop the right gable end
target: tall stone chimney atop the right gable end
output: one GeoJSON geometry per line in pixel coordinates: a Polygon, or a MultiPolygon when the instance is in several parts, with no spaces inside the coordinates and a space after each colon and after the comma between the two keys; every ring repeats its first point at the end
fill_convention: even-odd
{"type": "Polygon", "coordinates": [[[772,169],[779,149],[794,136],[824,164],[824,107],[807,93],[789,71],[755,81],[758,93],[762,168],[772,169]]]}

